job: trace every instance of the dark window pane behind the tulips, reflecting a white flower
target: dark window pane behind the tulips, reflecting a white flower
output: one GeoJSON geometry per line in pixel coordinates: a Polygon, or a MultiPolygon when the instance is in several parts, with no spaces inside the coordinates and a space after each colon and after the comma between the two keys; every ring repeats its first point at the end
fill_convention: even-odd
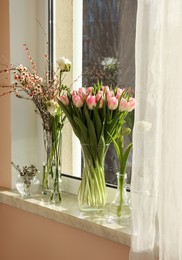
{"type": "MultiPolygon", "coordinates": [[[[83,1],[83,85],[98,80],[103,85],[135,88],[135,27],[137,0],[83,1]]],[[[133,126],[133,113],[127,117],[133,126]]],[[[128,136],[126,144],[132,141],[128,136]]],[[[114,148],[110,146],[106,162],[106,182],[116,183],[118,165],[114,148]]],[[[131,156],[127,166],[131,174],[131,156]]]]}

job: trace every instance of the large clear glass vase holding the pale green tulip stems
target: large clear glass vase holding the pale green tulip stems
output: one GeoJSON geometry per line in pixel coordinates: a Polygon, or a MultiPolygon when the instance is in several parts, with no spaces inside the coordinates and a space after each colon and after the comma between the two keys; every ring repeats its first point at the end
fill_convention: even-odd
{"type": "Polygon", "coordinates": [[[106,204],[104,159],[108,146],[81,146],[83,171],[78,191],[79,208],[83,212],[101,212],[106,204]]]}

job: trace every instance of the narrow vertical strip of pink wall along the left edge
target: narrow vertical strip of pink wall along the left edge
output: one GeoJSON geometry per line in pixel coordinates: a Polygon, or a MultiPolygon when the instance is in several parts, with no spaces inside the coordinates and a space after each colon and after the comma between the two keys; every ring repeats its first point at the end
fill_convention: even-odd
{"type": "MultiPolygon", "coordinates": [[[[0,70],[9,65],[10,35],[9,35],[9,1],[0,0],[0,70]]],[[[6,85],[9,80],[3,81],[6,85]]],[[[0,74],[0,85],[2,74],[0,74]]],[[[0,93],[2,93],[0,88],[0,93]]],[[[10,134],[10,95],[0,97],[0,185],[11,187],[11,134],[10,134]]]]}

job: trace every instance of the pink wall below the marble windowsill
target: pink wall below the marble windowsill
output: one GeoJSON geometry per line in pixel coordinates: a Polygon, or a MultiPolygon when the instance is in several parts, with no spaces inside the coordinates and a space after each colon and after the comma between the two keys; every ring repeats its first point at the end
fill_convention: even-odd
{"type": "Polygon", "coordinates": [[[129,248],[0,204],[2,260],[127,260],[129,248]]]}

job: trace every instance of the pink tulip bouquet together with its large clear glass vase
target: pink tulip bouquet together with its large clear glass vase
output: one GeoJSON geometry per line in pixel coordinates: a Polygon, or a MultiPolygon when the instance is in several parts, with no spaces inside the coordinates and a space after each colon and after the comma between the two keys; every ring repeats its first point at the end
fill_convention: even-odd
{"type": "Polygon", "coordinates": [[[58,99],[84,155],[78,202],[83,211],[100,211],[106,203],[104,158],[108,145],[117,138],[118,126],[135,107],[129,89],[109,88],[101,83],[63,91],[58,99]]]}

